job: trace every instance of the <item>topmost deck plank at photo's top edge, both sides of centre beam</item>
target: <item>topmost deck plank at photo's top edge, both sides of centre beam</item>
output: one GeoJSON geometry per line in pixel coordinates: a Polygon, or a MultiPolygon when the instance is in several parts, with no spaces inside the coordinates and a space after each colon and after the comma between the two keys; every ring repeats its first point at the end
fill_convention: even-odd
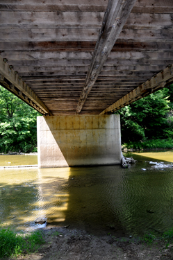
{"type": "MultiPolygon", "coordinates": [[[[100,0],[100,1],[75,1],[75,0],[65,0],[65,1],[49,1],[49,3],[42,3],[42,1],[6,1],[4,3],[4,0],[0,1],[0,10],[37,10],[37,11],[52,11],[52,10],[58,10],[58,11],[94,11],[94,12],[105,12],[106,6],[107,6],[108,1],[100,0]]],[[[135,6],[133,7],[133,11],[138,10],[138,12],[142,8],[152,8],[157,10],[161,10],[161,8],[168,8],[172,7],[172,0],[140,0],[136,1],[135,6]]],[[[144,10],[143,10],[144,11],[144,10]]]]}

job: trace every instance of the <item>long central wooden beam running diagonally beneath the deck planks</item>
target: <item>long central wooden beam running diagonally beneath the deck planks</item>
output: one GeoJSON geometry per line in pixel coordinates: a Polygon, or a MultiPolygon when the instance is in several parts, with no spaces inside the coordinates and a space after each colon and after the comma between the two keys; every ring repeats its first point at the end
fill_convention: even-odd
{"type": "Polygon", "coordinates": [[[79,98],[76,114],[81,112],[92,86],[113,49],[117,37],[120,35],[126,19],[129,17],[131,9],[136,0],[109,0],[104,15],[104,20],[99,32],[99,37],[92,55],[92,61],[85,79],[85,85],[79,98]]]}

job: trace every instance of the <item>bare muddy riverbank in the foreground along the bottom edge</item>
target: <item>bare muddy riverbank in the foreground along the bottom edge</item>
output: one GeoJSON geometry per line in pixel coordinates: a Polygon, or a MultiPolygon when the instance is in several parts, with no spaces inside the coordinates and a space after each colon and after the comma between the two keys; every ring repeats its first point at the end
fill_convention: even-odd
{"type": "Polygon", "coordinates": [[[115,237],[110,233],[95,236],[83,230],[70,227],[47,227],[42,229],[44,245],[38,252],[8,260],[125,260],[172,259],[173,245],[165,241],[152,241],[147,237],[139,240],[133,237],[115,237]]]}

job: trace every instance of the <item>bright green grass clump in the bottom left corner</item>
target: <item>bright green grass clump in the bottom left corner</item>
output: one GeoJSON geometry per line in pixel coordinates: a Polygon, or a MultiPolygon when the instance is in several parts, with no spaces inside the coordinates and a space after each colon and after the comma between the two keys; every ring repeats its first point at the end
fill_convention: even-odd
{"type": "Polygon", "coordinates": [[[0,227],[0,259],[4,257],[29,254],[38,250],[43,244],[42,232],[35,231],[32,234],[17,234],[10,228],[0,227]]]}

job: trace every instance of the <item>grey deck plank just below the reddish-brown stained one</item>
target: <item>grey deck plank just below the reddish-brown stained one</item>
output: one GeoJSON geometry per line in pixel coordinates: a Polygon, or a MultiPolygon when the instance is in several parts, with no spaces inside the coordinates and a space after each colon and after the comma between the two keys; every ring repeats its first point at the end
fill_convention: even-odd
{"type": "MultiPolygon", "coordinates": [[[[91,60],[92,58],[92,52],[90,51],[79,51],[79,52],[67,52],[67,51],[6,51],[6,52],[2,52],[1,53],[3,58],[7,58],[10,60],[10,62],[15,62],[14,65],[16,65],[17,67],[22,66],[25,64],[28,66],[31,66],[33,64],[33,66],[35,65],[45,65],[47,67],[51,66],[47,62],[45,62],[45,60],[51,60],[52,62],[54,62],[53,64],[55,65],[55,62],[63,62],[64,60],[66,60],[66,62],[68,61],[74,61],[74,64],[76,67],[78,67],[79,65],[83,66],[83,60],[91,60]],[[27,60],[26,63],[24,63],[24,61],[27,60]],[[42,63],[39,63],[38,60],[42,63]],[[78,64],[78,62],[75,63],[75,61],[81,61],[81,64],[78,64]],[[37,61],[37,62],[36,62],[37,61]],[[19,64],[18,64],[19,62],[19,64]]],[[[133,59],[133,60],[138,60],[138,59],[149,59],[149,60],[169,60],[169,59],[173,59],[173,51],[171,50],[162,50],[162,49],[156,49],[155,51],[146,51],[145,49],[143,49],[142,51],[138,51],[135,49],[131,49],[130,51],[111,51],[110,55],[108,56],[108,59],[106,60],[106,62],[108,64],[110,64],[110,62],[115,63],[115,60],[124,60],[124,59],[133,59]]],[[[67,66],[69,67],[71,64],[69,63],[65,63],[65,64],[57,64],[57,67],[59,66],[67,66]]]]}

